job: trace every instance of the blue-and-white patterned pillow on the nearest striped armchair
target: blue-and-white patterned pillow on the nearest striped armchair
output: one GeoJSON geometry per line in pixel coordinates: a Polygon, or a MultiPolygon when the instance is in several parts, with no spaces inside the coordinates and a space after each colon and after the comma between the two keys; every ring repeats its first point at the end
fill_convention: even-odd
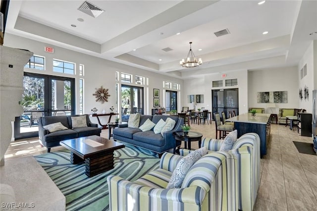
{"type": "MultiPolygon", "coordinates": [[[[190,155],[190,154],[189,154],[190,155]]],[[[188,156],[179,160],[174,169],[172,176],[167,184],[167,189],[180,188],[189,169],[194,164],[193,160],[188,156]]]]}

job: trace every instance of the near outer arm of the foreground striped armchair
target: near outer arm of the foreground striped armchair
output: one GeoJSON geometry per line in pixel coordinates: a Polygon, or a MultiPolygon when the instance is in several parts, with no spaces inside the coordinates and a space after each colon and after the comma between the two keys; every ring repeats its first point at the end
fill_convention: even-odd
{"type": "Polygon", "coordinates": [[[125,180],[119,176],[108,176],[109,209],[110,210],[153,210],[165,204],[173,207],[187,204],[188,207],[196,208],[205,199],[206,192],[198,186],[175,189],[152,188],[125,180]],[[142,203],[140,202],[152,202],[142,203]],[[176,203],[176,204],[175,204],[176,203]]]}

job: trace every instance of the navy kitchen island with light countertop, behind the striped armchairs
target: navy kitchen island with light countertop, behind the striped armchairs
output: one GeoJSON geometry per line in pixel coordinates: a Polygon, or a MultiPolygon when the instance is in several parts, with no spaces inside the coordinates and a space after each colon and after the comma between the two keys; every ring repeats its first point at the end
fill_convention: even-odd
{"type": "Polygon", "coordinates": [[[266,146],[270,134],[269,113],[256,113],[255,116],[251,113],[243,113],[226,119],[226,121],[234,122],[234,128],[238,131],[238,138],[245,133],[257,133],[261,140],[261,158],[266,155],[266,146]]]}

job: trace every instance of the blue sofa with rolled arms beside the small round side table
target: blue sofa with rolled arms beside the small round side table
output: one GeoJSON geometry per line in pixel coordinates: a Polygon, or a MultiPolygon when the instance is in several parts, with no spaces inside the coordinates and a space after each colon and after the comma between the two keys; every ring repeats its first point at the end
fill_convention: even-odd
{"type": "Polygon", "coordinates": [[[153,131],[154,128],[143,132],[139,128],[129,128],[127,124],[123,124],[113,129],[113,139],[151,150],[158,153],[160,157],[164,152],[180,146],[181,142],[176,142],[172,133],[182,131],[180,126],[184,125],[184,119],[169,115],[141,115],[140,117],[139,126],[143,125],[147,119],[157,124],[160,119],[166,121],[168,117],[175,120],[176,124],[171,131],[163,133],[163,136],[160,133],[155,134],[153,131]]]}

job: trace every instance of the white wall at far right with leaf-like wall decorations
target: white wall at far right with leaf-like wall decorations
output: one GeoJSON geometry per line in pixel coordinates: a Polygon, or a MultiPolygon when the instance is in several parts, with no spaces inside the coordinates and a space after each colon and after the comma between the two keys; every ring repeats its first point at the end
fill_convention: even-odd
{"type": "Polygon", "coordinates": [[[308,47],[305,54],[303,55],[302,59],[298,64],[298,78],[299,78],[299,87],[303,90],[303,99],[299,101],[300,108],[305,108],[307,112],[312,112],[312,105],[313,105],[313,96],[312,91],[314,89],[314,77],[316,77],[316,72],[314,72],[314,45],[312,44],[308,47]],[[300,77],[300,71],[306,64],[307,66],[307,75],[304,76],[302,79],[300,77]],[[304,88],[305,86],[308,87],[308,99],[304,99],[304,88]]]}

